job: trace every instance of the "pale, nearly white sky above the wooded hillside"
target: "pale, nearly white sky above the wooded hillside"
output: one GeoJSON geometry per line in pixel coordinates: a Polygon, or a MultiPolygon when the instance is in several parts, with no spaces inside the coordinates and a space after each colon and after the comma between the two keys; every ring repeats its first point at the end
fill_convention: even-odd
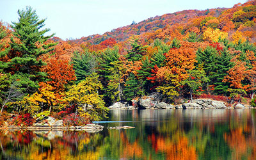
{"type": "Polygon", "coordinates": [[[0,0],[0,20],[18,22],[18,10],[31,6],[45,19],[47,34],[63,40],[100,34],[150,17],[182,10],[232,8],[246,0],[0,0]]]}

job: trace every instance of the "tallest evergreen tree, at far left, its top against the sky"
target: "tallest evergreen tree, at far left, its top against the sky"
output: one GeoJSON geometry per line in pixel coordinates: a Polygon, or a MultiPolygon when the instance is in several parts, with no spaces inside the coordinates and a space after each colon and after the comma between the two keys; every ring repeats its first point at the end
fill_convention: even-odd
{"type": "MultiPolygon", "coordinates": [[[[55,44],[44,42],[53,35],[44,36],[50,29],[42,29],[45,19],[39,20],[35,10],[27,6],[26,10],[18,10],[19,22],[13,22],[13,37],[10,42],[10,52],[6,56],[10,61],[1,63],[0,69],[3,72],[15,72],[16,77],[22,82],[21,88],[26,93],[33,93],[38,88],[38,81],[46,76],[40,72],[40,67],[45,65],[39,56],[52,51],[55,44]]],[[[3,56],[3,55],[2,55],[3,56]]]]}

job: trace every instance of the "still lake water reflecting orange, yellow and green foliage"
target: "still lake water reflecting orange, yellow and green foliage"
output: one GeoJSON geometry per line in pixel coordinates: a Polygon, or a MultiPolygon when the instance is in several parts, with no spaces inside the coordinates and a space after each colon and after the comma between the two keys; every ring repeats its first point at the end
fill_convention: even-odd
{"type": "Polygon", "coordinates": [[[1,159],[256,159],[255,109],[112,110],[101,132],[0,132],[1,159]],[[111,130],[129,125],[135,129],[111,130]]]}

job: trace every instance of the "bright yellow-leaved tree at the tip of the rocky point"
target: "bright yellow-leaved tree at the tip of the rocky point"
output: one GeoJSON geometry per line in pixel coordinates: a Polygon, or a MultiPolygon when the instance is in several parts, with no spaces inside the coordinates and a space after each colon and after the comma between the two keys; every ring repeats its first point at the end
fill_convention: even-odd
{"type": "Polygon", "coordinates": [[[108,112],[108,108],[104,106],[103,95],[99,95],[103,86],[98,78],[99,75],[93,72],[80,83],[73,85],[64,99],[70,106],[76,106],[79,116],[90,120],[100,120],[108,112]]]}

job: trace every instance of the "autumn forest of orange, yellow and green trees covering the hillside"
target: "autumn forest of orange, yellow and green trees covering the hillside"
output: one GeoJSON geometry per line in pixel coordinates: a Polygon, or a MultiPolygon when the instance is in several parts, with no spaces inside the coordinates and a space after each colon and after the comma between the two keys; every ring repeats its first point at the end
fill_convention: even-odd
{"type": "Polygon", "coordinates": [[[106,117],[114,102],[157,93],[256,106],[256,1],[185,10],[76,40],[45,36],[28,6],[0,22],[0,125],[53,116],[66,125],[106,117]],[[15,117],[15,118],[13,118],[15,117]]]}

